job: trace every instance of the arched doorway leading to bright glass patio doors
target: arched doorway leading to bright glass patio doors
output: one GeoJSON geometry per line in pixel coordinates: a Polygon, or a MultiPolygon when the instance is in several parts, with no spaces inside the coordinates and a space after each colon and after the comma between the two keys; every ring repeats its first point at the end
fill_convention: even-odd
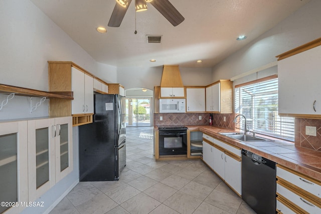
{"type": "Polygon", "coordinates": [[[125,91],[126,126],[152,126],[153,91],[132,88],[125,91]]]}

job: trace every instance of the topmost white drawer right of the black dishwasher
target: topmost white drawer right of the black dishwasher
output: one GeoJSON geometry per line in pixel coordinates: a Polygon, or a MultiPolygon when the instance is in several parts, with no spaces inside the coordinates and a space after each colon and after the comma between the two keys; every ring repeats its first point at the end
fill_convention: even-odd
{"type": "Polygon", "coordinates": [[[308,191],[309,193],[321,197],[321,185],[313,181],[311,178],[306,178],[305,176],[299,176],[299,174],[294,174],[282,166],[276,167],[276,176],[308,191]]]}

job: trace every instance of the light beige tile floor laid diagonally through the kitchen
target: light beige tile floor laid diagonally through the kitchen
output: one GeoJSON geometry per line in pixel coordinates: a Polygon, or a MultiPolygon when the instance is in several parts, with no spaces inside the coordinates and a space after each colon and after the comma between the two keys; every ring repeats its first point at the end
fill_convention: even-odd
{"type": "Polygon", "coordinates": [[[120,179],[79,182],[50,213],[255,213],[201,160],[156,162],[152,133],[127,127],[120,179]]]}

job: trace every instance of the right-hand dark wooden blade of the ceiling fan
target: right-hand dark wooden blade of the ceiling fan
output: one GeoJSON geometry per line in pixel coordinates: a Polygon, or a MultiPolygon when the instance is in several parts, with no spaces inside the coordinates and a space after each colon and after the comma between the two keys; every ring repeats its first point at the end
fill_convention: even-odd
{"type": "Polygon", "coordinates": [[[161,13],[173,26],[181,24],[185,18],[176,10],[169,0],[153,0],[150,4],[161,13]]]}

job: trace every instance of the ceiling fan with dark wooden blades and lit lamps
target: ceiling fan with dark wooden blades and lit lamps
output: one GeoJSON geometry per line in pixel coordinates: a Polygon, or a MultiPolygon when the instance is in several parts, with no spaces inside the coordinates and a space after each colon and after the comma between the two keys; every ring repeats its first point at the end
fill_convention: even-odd
{"type": "MultiPolygon", "coordinates": [[[[136,12],[147,10],[146,2],[150,3],[173,26],[177,26],[184,21],[184,17],[176,10],[169,0],[135,0],[136,12]]],[[[120,26],[130,3],[131,0],[116,0],[116,5],[108,23],[109,27],[120,26]]]]}

